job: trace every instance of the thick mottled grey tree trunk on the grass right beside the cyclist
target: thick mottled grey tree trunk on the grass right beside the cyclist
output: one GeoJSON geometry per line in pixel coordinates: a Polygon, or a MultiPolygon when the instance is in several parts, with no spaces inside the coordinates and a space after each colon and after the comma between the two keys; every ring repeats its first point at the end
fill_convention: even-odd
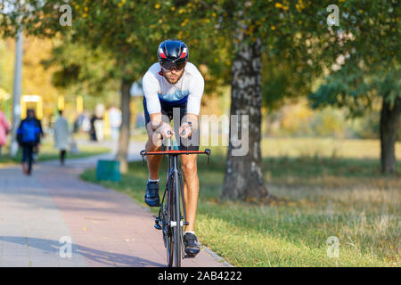
{"type": "MultiPolygon", "coordinates": [[[[234,56],[232,65],[231,115],[249,115],[249,151],[235,155],[237,149],[230,124],[230,140],[227,151],[223,199],[241,199],[250,202],[266,202],[269,194],[263,182],[261,139],[261,42],[245,38],[245,34],[234,33],[234,56]],[[244,41],[250,40],[250,42],[244,41]]],[[[238,119],[241,126],[241,118],[238,119]]],[[[238,127],[240,129],[240,127],[238,127]]],[[[246,134],[245,134],[246,135],[246,134]]],[[[241,134],[243,141],[244,134],[241,134]]]]}

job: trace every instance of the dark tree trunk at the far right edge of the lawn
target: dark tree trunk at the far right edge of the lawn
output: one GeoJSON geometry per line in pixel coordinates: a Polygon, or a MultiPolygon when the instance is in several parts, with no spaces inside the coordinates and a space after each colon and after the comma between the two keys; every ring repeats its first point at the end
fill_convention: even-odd
{"type": "Polygon", "coordinates": [[[396,172],[396,142],[400,128],[401,97],[393,104],[383,97],[381,105],[381,172],[396,172]]]}

